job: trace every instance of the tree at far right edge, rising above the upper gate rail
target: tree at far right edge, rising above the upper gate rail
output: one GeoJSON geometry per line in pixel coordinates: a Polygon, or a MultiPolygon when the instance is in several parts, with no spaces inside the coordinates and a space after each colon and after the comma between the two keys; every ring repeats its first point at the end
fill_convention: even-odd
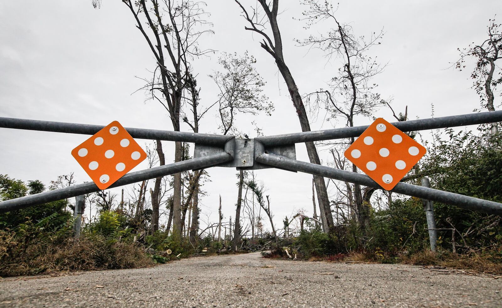
{"type": "MultiPolygon", "coordinates": [[[[457,48],[460,52],[460,59],[454,65],[457,69],[463,70],[466,67],[465,58],[470,57],[476,60],[476,66],[470,75],[473,79],[472,87],[481,99],[482,108],[495,111],[493,91],[498,84],[502,83],[502,71],[495,64],[496,60],[502,58],[502,32],[501,24],[496,24],[495,19],[490,19],[489,22],[488,38],[480,45],[472,43],[462,50],[457,48]],[[498,78],[494,79],[493,77],[497,75],[498,78]]],[[[490,134],[494,136],[497,132],[498,123],[491,123],[490,134]]]]}

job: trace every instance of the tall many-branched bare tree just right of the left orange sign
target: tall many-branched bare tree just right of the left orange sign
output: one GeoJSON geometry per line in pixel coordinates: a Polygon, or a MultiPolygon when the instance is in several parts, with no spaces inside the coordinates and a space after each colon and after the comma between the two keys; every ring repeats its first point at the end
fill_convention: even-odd
{"type": "MultiPolygon", "coordinates": [[[[198,47],[197,40],[211,30],[205,21],[205,4],[185,0],[124,0],[136,27],[145,38],[157,66],[144,87],[151,99],[168,111],[175,131],[180,131],[180,110],[186,78],[191,70],[190,60],[209,52],[198,47]],[[144,28],[144,25],[147,28],[144,28]]],[[[181,161],[181,142],[175,143],[175,162],[181,161]]],[[[181,241],[181,174],[174,174],[173,235],[181,241]]]]}

